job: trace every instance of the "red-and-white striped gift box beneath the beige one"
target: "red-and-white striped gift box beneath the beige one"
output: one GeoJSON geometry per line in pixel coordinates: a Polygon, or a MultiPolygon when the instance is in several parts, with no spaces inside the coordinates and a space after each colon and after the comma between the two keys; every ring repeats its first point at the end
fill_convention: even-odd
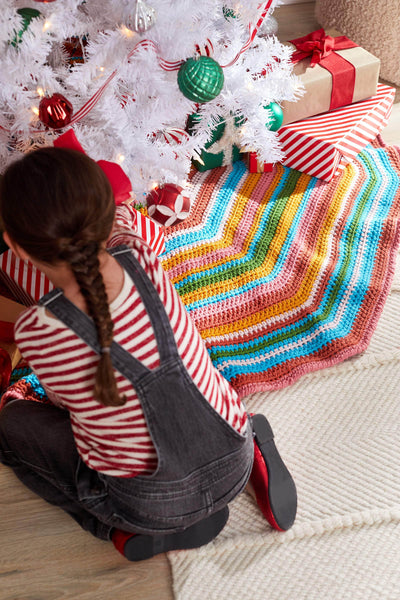
{"type": "Polygon", "coordinates": [[[330,181],[387,125],[395,92],[378,84],[371,98],[281,127],[282,164],[330,181]]]}

